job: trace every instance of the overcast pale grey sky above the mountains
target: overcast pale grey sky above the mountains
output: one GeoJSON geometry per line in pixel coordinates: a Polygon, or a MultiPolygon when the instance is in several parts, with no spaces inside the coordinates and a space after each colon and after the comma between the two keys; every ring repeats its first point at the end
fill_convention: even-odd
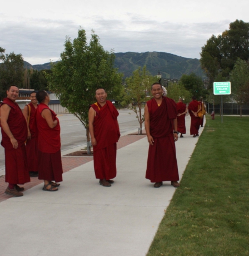
{"type": "Polygon", "coordinates": [[[66,36],[92,29],[104,50],[168,52],[200,58],[201,47],[236,19],[249,22],[248,0],[43,0],[1,3],[0,47],[32,65],[58,61],[66,36]]]}

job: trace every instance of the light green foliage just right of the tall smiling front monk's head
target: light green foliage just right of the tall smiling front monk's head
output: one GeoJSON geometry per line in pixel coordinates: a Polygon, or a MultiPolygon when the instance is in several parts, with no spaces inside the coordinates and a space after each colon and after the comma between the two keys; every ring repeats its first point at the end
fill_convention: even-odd
{"type": "Polygon", "coordinates": [[[167,97],[175,100],[175,102],[178,102],[180,98],[185,102],[190,102],[192,94],[190,91],[186,90],[181,83],[169,83],[167,88],[167,97]]]}

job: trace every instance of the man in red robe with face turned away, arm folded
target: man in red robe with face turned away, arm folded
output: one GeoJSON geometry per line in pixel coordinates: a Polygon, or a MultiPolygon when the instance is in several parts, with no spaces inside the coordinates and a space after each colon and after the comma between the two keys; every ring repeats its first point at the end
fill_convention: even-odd
{"type": "Polygon", "coordinates": [[[44,180],[43,191],[54,192],[61,185],[58,182],[62,181],[63,173],[61,127],[56,114],[48,107],[48,93],[38,91],[36,98],[39,102],[34,117],[38,136],[38,179],[44,180]]]}

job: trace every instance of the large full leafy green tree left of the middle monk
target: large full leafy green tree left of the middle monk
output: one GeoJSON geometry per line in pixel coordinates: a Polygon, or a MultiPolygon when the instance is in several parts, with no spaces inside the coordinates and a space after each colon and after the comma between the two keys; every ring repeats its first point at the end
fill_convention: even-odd
{"type": "Polygon", "coordinates": [[[98,36],[92,31],[89,45],[86,31],[78,29],[78,37],[71,41],[66,37],[61,61],[46,72],[48,88],[54,91],[61,105],[74,114],[87,130],[89,152],[88,109],[96,101],[95,91],[104,88],[112,93],[121,86],[122,75],[117,73],[114,54],[104,51],[98,36]]]}

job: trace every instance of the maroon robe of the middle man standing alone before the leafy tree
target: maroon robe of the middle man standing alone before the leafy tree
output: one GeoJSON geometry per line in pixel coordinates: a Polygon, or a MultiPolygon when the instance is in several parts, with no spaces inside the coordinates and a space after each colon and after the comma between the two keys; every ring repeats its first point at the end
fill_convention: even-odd
{"type": "Polygon", "coordinates": [[[93,121],[94,137],[97,145],[93,146],[93,165],[96,179],[110,180],[116,177],[117,142],[120,137],[117,117],[118,111],[111,101],[101,107],[91,105],[96,111],[93,121]]]}

